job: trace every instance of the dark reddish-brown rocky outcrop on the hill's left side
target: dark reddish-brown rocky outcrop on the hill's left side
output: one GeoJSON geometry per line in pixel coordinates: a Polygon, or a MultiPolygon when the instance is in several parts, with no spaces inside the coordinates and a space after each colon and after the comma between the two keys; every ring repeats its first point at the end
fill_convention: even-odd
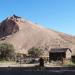
{"type": "Polygon", "coordinates": [[[19,31],[17,16],[6,18],[0,25],[0,36],[7,36],[19,31]]]}

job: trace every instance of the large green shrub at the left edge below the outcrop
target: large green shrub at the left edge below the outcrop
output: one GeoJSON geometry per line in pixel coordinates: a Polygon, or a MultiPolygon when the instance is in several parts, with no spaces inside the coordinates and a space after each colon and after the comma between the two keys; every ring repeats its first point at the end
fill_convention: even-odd
{"type": "Polygon", "coordinates": [[[14,58],[15,52],[12,44],[2,43],[0,44],[0,59],[10,60],[14,58]]]}

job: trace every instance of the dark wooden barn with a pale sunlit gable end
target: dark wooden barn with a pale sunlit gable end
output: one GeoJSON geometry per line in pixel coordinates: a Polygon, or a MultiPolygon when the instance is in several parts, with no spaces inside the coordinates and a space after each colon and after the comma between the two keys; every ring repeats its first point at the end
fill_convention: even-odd
{"type": "Polygon", "coordinates": [[[72,51],[69,48],[53,48],[49,52],[49,60],[71,59],[72,51]]]}

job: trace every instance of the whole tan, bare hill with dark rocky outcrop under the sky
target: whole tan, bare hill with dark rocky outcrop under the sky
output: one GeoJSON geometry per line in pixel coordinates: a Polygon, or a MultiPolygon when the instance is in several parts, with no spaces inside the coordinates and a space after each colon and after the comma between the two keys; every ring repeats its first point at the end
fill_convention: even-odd
{"type": "Polygon", "coordinates": [[[46,29],[31,21],[13,15],[0,24],[0,43],[9,42],[16,50],[28,50],[32,47],[49,51],[51,48],[68,47],[75,52],[75,37],[46,29]]]}

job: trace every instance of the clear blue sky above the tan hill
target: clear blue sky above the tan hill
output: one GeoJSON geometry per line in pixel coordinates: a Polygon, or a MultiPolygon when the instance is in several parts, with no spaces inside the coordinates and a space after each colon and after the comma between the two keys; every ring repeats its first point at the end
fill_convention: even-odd
{"type": "Polygon", "coordinates": [[[75,35],[75,0],[0,0],[0,21],[13,14],[75,35]]]}

